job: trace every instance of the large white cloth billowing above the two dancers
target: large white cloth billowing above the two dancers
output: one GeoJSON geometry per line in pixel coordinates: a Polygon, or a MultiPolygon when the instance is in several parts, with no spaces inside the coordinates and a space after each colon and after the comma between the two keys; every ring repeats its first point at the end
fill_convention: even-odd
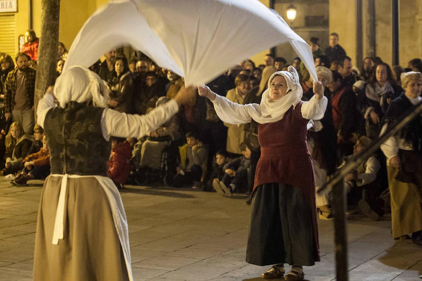
{"type": "Polygon", "coordinates": [[[257,0],[114,0],[85,22],[63,71],[89,67],[111,48],[130,44],[201,85],[245,58],[289,42],[317,74],[308,44],[277,13],[257,0]]]}

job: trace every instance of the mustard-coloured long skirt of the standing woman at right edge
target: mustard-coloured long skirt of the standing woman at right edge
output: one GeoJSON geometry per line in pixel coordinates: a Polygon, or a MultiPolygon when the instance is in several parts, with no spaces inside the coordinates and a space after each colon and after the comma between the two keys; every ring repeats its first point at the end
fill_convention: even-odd
{"type": "Polygon", "coordinates": [[[397,168],[387,166],[393,238],[422,230],[422,195],[412,183],[395,179],[397,168]]]}

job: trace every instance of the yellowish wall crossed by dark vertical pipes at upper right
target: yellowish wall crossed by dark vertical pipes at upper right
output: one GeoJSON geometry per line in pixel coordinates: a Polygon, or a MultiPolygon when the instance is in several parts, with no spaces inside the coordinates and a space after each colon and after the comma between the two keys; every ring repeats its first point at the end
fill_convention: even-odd
{"type": "MultiPolygon", "coordinates": [[[[330,0],[330,32],[337,32],[340,45],[356,65],[356,0],[330,0]],[[341,11],[341,12],[339,12],[341,11]]],[[[370,56],[368,42],[368,1],[362,1],[363,57],[370,56]]],[[[422,1],[400,1],[399,64],[407,67],[408,61],[422,57],[422,1]]],[[[392,63],[392,11],[391,2],[375,0],[376,56],[387,64],[392,63]]]]}

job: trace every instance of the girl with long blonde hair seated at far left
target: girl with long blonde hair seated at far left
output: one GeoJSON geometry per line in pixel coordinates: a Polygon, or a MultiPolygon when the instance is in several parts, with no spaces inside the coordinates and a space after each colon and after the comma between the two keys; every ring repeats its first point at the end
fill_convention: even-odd
{"type": "Polygon", "coordinates": [[[0,171],[0,176],[14,174],[20,170],[22,160],[28,155],[32,145],[30,136],[24,133],[22,124],[13,122],[5,138],[6,152],[5,169],[0,171]]]}

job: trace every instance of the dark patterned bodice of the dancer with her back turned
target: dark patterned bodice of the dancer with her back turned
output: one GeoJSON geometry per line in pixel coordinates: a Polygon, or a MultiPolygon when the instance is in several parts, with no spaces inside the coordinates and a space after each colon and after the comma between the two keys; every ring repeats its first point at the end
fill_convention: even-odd
{"type": "Polygon", "coordinates": [[[69,102],[46,115],[44,131],[50,149],[51,174],[107,176],[111,146],[103,137],[104,108],[69,102]]]}

